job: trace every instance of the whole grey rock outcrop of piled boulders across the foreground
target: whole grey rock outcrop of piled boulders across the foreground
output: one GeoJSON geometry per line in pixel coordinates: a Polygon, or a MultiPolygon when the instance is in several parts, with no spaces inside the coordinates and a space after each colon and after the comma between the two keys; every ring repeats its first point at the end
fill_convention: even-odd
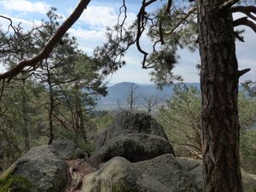
{"type": "MultiPolygon", "coordinates": [[[[242,172],[242,182],[255,192],[255,176],[242,172]]],[[[99,135],[91,158],[61,139],[32,148],[0,177],[0,192],[120,191],[203,192],[201,160],[176,158],[154,119],[124,112],[99,135]]]]}

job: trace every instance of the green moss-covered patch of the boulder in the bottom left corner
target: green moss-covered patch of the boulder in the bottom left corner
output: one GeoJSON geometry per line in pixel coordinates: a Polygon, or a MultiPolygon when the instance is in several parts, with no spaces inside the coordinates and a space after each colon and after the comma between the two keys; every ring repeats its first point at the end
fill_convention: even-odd
{"type": "Polygon", "coordinates": [[[32,183],[14,173],[15,168],[10,168],[0,177],[0,192],[31,192],[32,183]]]}

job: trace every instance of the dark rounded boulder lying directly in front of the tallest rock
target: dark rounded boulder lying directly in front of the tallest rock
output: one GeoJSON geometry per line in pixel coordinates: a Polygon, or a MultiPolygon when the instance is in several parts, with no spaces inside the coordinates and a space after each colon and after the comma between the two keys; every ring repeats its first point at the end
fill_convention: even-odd
{"type": "Polygon", "coordinates": [[[115,156],[137,162],[150,160],[161,154],[173,154],[172,145],[163,137],[144,133],[130,133],[113,137],[96,151],[96,161],[108,161],[115,156]]]}

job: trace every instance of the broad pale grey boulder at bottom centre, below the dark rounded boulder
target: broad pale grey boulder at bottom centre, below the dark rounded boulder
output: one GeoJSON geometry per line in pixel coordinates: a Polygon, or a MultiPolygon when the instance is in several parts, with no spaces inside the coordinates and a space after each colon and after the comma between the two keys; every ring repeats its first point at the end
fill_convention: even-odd
{"type": "Polygon", "coordinates": [[[83,192],[198,192],[172,154],[131,163],[114,157],[83,179],[83,192]]]}

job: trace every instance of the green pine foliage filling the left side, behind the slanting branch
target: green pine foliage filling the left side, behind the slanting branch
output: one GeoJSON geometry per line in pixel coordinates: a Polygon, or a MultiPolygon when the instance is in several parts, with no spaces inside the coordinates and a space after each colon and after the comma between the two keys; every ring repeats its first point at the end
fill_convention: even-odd
{"type": "MultiPolygon", "coordinates": [[[[31,32],[20,28],[19,34],[24,37],[5,34],[0,29],[0,49],[14,50],[0,53],[8,68],[44,48],[60,26],[61,17],[55,10],[49,10],[48,20],[42,20],[43,25],[31,32]]],[[[79,135],[79,145],[94,149],[86,135],[92,129],[90,110],[95,108],[99,96],[107,94],[102,65],[78,49],[76,38],[65,34],[36,71],[22,73],[4,84],[0,102],[1,168],[6,169],[30,148],[48,143],[48,137],[63,137],[65,132],[79,135]]]]}

